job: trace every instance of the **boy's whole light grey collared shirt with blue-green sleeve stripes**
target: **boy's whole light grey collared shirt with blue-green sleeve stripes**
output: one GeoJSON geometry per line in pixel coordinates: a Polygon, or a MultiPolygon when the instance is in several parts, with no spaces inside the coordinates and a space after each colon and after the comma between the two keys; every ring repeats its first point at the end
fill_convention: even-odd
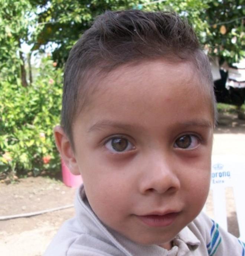
{"type": "Polygon", "coordinates": [[[76,216],[66,221],[43,256],[245,256],[245,244],[200,213],[180,231],[171,250],[132,242],[104,226],[89,206],[83,185],[76,216]]]}

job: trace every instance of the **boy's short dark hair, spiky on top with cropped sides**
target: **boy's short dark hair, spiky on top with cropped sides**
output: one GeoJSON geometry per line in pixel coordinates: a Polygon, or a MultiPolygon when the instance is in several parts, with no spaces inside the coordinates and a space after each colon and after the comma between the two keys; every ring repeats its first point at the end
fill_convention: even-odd
{"type": "Polygon", "coordinates": [[[106,11],[73,46],[65,66],[61,125],[73,146],[72,124],[86,101],[89,77],[146,59],[192,61],[204,80],[214,121],[215,95],[208,57],[192,27],[174,12],[106,11]]]}

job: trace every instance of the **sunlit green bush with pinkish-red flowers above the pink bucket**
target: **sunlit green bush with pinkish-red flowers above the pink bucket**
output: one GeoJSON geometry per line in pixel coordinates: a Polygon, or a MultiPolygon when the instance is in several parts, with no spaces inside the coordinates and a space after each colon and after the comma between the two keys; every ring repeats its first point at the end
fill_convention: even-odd
{"type": "Polygon", "coordinates": [[[38,72],[32,87],[0,82],[0,172],[59,170],[53,127],[59,124],[62,71],[46,58],[38,72]]]}

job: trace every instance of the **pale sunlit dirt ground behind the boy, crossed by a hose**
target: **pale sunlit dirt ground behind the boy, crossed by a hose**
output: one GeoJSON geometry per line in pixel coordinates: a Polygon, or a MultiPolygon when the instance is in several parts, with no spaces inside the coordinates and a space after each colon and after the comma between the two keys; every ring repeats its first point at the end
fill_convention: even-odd
{"type": "MultiPolygon", "coordinates": [[[[215,130],[213,154],[245,156],[245,121],[222,115],[215,130]]],[[[0,216],[30,213],[73,204],[74,188],[44,177],[0,183],[0,216]]],[[[226,191],[228,229],[239,235],[232,189],[226,191]]],[[[0,252],[6,256],[41,256],[63,221],[74,215],[73,207],[27,218],[0,220],[0,252]]],[[[212,192],[207,201],[212,217],[212,192]]]]}

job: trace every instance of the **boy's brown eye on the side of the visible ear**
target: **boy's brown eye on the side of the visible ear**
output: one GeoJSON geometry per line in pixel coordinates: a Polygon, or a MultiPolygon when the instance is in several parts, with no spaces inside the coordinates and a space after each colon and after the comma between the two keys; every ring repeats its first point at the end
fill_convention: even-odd
{"type": "Polygon", "coordinates": [[[123,137],[113,137],[107,140],[105,147],[113,153],[123,153],[135,148],[132,143],[123,137]]]}

